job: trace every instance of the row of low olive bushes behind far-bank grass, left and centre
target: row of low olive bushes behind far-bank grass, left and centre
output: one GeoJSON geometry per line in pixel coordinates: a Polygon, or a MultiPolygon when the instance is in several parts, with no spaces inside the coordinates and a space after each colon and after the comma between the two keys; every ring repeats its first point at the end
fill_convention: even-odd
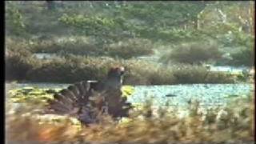
{"type": "MultiPolygon", "coordinates": [[[[13,40],[12,40],[13,41],[13,40]]],[[[22,43],[22,42],[21,42],[22,43]]],[[[24,43],[24,42],[23,42],[24,43]]],[[[146,39],[128,39],[126,42],[118,42],[104,47],[98,47],[90,41],[90,38],[70,37],[59,41],[35,39],[31,40],[31,45],[27,49],[32,53],[49,53],[58,55],[83,55],[83,56],[110,56],[113,58],[136,58],[142,55],[153,54],[153,44],[146,39]]],[[[15,47],[14,42],[8,43],[8,47],[15,47]]]]}

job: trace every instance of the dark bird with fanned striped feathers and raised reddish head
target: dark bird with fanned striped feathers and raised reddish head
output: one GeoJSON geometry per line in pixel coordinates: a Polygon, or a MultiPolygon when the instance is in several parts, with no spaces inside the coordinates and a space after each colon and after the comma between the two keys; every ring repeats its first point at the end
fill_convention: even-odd
{"type": "Polygon", "coordinates": [[[102,114],[109,114],[114,119],[128,117],[132,106],[122,97],[124,73],[123,66],[115,66],[102,81],[74,83],[54,94],[48,101],[47,111],[78,118],[85,125],[100,122],[102,114]]]}

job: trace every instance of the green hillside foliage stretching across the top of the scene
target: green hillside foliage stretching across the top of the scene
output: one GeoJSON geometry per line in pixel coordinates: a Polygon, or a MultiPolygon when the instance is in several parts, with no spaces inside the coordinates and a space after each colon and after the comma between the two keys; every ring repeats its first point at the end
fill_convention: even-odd
{"type": "MultiPolygon", "coordinates": [[[[249,26],[252,30],[253,26],[248,2],[62,2],[54,13],[46,6],[46,2],[6,2],[7,29],[17,27],[8,19],[17,21],[14,23],[18,27],[26,19],[27,33],[86,34],[102,46],[134,37],[184,42],[218,35],[218,41],[225,43],[223,36],[229,30],[242,34],[239,27],[249,26]],[[226,14],[226,22],[220,22],[220,10],[226,14]]],[[[235,36],[234,41],[239,43],[239,39],[240,36],[235,36]]]]}

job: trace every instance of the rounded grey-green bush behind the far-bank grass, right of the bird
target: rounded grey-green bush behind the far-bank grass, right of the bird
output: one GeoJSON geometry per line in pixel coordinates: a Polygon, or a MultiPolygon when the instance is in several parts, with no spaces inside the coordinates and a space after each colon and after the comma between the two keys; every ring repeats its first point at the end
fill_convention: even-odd
{"type": "Polygon", "coordinates": [[[170,54],[163,55],[161,59],[162,62],[199,64],[200,62],[217,60],[221,56],[222,53],[215,43],[192,42],[174,48],[170,51],[170,54]]]}

